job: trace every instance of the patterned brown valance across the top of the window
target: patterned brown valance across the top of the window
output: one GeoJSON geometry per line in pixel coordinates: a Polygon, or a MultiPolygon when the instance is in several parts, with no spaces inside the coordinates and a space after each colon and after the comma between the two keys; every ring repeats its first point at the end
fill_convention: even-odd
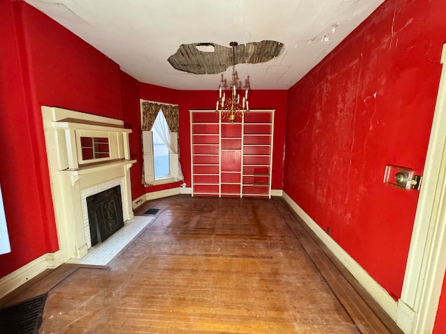
{"type": "Polygon", "coordinates": [[[178,132],[178,105],[162,104],[156,102],[142,102],[142,130],[151,131],[153,123],[159,111],[162,111],[166,118],[170,132],[178,132]]]}

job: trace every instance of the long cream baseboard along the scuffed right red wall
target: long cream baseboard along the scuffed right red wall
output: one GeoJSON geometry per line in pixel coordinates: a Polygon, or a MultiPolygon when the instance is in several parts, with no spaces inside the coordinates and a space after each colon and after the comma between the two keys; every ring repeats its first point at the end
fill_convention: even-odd
{"type": "Polygon", "coordinates": [[[397,302],[392,299],[390,294],[383,287],[381,287],[376,280],[371,278],[369,273],[364,270],[353,257],[348,255],[346,251],[339,246],[323,229],[285,192],[283,193],[284,200],[294,210],[302,221],[321,239],[323,244],[333,253],[337,260],[346,267],[346,269],[356,278],[356,280],[369,292],[369,294],[376,300],[376,302],[387,312],[387,314],[396,321],[397,319],[397,302]]]}

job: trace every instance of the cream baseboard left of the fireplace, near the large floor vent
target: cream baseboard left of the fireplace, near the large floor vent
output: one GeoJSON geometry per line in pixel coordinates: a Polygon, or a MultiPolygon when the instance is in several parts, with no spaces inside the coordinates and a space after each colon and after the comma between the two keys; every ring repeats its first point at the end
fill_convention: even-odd
{"type": "Polygon", "coordinates": [[[55,253],[46,253],[12,273],[9,273],[5,277],[0,278],[0,298],[10,294],[10,292],[13,292],[31,280],[31,278],[35,278],[38,274],[43,273],[46,269],[57,268],[62,263],[62,253],[58,250],[55,253]]]}

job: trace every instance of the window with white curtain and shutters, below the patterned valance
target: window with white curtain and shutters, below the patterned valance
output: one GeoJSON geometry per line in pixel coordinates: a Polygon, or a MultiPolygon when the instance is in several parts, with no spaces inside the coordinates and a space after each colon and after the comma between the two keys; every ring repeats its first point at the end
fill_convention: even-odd
{"type": "Polygon", "coordinates": [[[178,132],[169,132],[160,110],[151,131],[143,131],[144,182],[161,184],[183,180],[178,161],[178,132]]]}

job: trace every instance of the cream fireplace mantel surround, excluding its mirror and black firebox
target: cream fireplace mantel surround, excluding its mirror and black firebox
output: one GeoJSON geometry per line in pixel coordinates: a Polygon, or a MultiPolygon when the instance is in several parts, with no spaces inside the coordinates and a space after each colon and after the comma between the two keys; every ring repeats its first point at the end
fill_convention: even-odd
{"type": "Polygon", "coordinates": [[[49,174],[56,214],[59,248],[63,262],[88,253],[84,229],[83,189],[118,180],[121,184],[123,219],[133,218],[130,188],[128,134],[122,120],[79,113],[56,107],[42,107],[49,174]],[[109,157],[84,161],[80,136],[109,138],[109,157]]]}

